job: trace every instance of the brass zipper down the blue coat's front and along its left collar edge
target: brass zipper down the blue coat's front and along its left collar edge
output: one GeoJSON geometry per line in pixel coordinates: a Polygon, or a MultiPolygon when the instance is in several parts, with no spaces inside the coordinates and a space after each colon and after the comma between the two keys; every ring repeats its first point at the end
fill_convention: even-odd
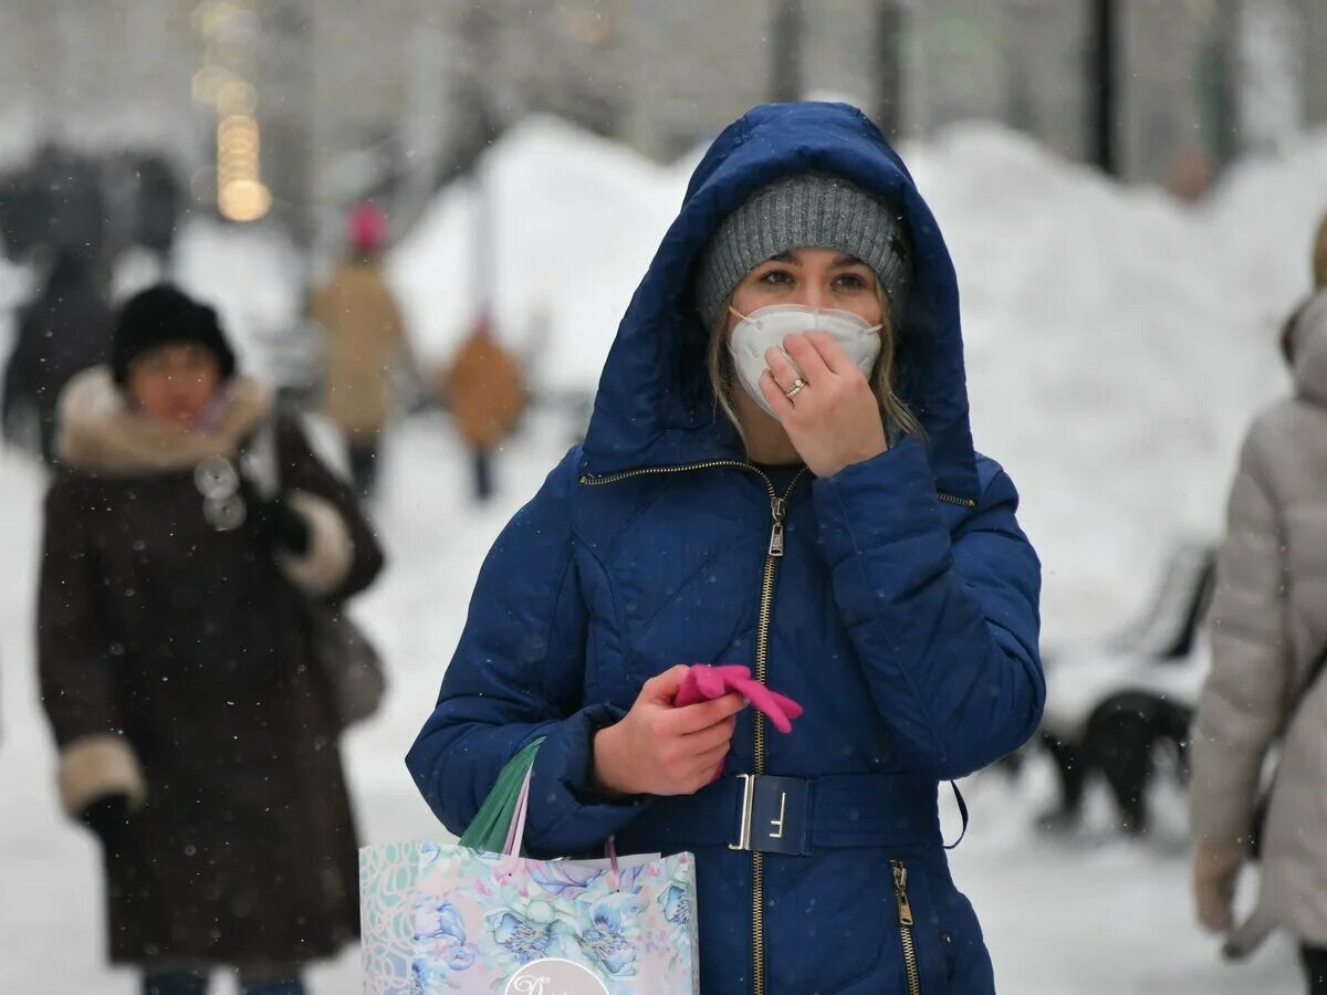
{"type": "MultiPolygon", "coordinates": [[[[690,470],[709,470],[711,467],[734,467],[758,474],[764,480],[764,490],[770,494],[770,541],[764,551],[764,572],[760,578],[760,614],[755,630],[755,679],[762,685],[766,681],[770,661],[770,624],[774,614],[774,580],[779,569],[779,560],[784,552],[784,520],[788,516],[788,499],[807,475],[807,468],[802,467],[796,476],[788,483],[787,490],[780,496],[774,487],[774,480],[763,470],[735,459],[710,460],[707,463],[689,463],[679,467],[642,467],[628,470],[621,474],[606,476],[581,475],[580,482],[593,487],[625,480],[630,476],[646,476],[656,474],[682,474],[690,470]]],[[[755,714],[755,771],[764,773],[764,715],[755,714]]],[[[764,854],[756,850],[751,853],[751,992],[764,995],[764,854]]]]}

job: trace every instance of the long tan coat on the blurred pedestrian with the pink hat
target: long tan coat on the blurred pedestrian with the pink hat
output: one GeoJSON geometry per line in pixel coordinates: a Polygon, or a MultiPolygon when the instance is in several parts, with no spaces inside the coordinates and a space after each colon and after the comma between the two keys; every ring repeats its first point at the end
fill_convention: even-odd
{"type": "Polygon", "coordinates": [[[377,435],[387,421],[387,373],[407,357],[395,297],[377,263],[346,263],[313,296],[309,317],[326,334],[322,411],[346,435],[377,435]]]}

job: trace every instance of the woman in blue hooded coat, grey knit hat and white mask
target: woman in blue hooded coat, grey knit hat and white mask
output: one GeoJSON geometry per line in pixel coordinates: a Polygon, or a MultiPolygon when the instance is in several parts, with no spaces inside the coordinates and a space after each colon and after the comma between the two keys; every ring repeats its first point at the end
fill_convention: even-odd
{"type": "Polygon", "coordinates": [[[585,443],[488,555],[409,767],[460,832],[544,736],[531,849],[694,852],[706,995],[993,992],[937,785],[1040,716],[1016,505],[902,162],[853,107],[756,107],[691,178],[585,443]],[[805,712],[673,707],[695,662],[805,712]]]}

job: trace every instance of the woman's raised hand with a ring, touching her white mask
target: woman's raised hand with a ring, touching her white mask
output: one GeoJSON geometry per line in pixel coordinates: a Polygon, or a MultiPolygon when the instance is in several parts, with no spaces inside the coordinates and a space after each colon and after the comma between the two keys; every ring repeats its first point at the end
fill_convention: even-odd
{"type": "Polygon", "coordinates": [[[880,402],[843,348],[824,332],[788,336],[783,348],[802,370],[803,386],[788,397],[798,370],[778,349],[768,349],[760,391],[774,409],[798,455],[816,476],[832,476],[886,448],[880,402]]]}

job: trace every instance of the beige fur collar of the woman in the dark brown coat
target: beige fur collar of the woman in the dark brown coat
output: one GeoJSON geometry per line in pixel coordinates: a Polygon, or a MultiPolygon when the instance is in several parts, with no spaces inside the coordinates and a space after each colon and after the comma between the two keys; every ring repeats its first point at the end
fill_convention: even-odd
{"type": "Polygon", "coordinates": [[[131,411],[110,370],[74,377],[60,398],[56,458],[69,470],[110,476],[178,472],[208,456],[232,456],[272,410],[272,393],[249,377],[224,387],[216,425],[184,429],[131,411]]]}

